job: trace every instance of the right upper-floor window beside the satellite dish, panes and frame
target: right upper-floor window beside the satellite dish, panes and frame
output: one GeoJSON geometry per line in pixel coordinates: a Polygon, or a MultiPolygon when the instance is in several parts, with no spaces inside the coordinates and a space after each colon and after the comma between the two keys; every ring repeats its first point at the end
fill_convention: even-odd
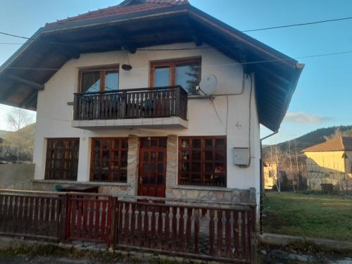
{"type": "Polygon", "coordinates": [[[201,58],[151,63],[151,87],[181,85],[189,94],[196,94],[201,81],[201,58]]]}

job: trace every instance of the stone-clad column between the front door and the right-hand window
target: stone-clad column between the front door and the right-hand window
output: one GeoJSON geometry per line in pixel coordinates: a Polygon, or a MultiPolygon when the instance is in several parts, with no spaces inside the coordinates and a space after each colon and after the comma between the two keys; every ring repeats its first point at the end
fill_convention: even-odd
{"type": "Polygon", "coordinates": [[[172,186],[177,184],[177,136],[168,136],[166,164],[166,197],[172,196],[172,186]]]}

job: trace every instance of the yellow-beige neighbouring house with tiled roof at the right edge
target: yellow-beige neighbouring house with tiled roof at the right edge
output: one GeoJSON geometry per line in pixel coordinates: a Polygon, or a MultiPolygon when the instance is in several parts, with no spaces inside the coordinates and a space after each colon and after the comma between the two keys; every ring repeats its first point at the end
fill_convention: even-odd
{"type": "Polygon", "coordinates": [[[335,191],[352,189],[352,137],[339,137],[303,149],[306,154],[307,184],[320,190],[332,184],[335,191]]]}

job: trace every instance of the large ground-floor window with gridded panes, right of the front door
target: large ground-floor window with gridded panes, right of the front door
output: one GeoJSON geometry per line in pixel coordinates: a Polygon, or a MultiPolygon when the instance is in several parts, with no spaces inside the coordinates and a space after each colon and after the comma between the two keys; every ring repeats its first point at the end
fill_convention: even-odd
{"type": "Polygon", "coordinates": [[[179,184],[226,187],[226,137],[179,138],[179,184]]]}

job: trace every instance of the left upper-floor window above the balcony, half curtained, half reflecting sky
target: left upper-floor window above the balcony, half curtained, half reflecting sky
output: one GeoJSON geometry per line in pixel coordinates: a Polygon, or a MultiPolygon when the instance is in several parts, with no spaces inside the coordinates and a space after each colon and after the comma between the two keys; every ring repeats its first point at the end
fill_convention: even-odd
{"type": "Polygon", "coordinates": [[[118,90],[118,77],[118,66],[80,70],[79,91],[87,93],[118,90]]]}

